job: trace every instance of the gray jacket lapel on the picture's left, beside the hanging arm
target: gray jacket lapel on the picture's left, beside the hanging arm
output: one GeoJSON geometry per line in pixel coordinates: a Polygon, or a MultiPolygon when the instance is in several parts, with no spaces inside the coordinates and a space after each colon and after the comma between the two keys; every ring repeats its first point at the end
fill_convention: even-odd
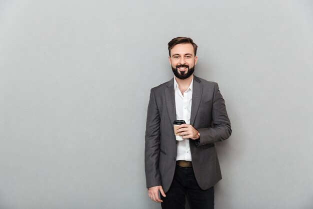
{"type": "Polygon", "coordinates": [[[173,123],[176,120],[174,78],[167,82],[167,88],[164,90],[164,94],[169,121],[173,123]]]}

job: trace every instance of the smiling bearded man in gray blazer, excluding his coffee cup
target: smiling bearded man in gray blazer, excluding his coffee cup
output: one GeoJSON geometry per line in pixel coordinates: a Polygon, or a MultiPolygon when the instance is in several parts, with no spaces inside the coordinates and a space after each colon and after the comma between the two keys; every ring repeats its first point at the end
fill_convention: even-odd
{"type": "Polygon", "coordinates": [[[148,196],[164,208],[214,208],[213,186],[221,179],[214,147],[231,134],[217,83],[193,75],[197,46],[190,38],[168,43],[174,78],[151,89],[145,131],[148,196]],[[173,122],[184,120],[177,132],[173,122]],[[159,197],[160,193],[160,197],[159,197]]]}

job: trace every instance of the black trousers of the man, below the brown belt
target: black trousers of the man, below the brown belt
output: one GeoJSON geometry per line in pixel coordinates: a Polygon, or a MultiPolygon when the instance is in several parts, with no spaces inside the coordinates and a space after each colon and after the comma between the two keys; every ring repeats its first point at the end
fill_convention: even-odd
{"type": "Polygon", "coordinates": [[[166,197],[161,195],[162,209],[185,209],[185,197],[190,209],[214,209],[214,187],[202,190],[192,167],[176,165],[173,181],[165,194],[166,197]]]}

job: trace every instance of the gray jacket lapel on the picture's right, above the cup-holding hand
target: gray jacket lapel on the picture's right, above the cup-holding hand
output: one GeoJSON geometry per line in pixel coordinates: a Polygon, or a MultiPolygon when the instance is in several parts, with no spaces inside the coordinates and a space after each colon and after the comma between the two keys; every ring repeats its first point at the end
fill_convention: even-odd
{"type": "Polygon", "coordinates": [[[192,104],[191,104],[191,114],[190,114],[190,125],[193,126],[196,113],[198,111],[201,97],[202,97],[202,84],[198,77],[193,76],[193,87],[192,87],[192,104]]]}

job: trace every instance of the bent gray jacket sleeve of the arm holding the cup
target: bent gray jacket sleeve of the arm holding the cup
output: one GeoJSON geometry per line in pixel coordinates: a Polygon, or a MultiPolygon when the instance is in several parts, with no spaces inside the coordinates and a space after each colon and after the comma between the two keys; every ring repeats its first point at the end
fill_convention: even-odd
{"type": "Polygon", "coordinates": [[[200,139],[195,141],[196,146],[226,140],[231,134],[230,121],[226,112],[225,101],[219,92],[217,83],[214,85],[212,101],[212,124],[210,128],[199,128],[200,139]]]}

